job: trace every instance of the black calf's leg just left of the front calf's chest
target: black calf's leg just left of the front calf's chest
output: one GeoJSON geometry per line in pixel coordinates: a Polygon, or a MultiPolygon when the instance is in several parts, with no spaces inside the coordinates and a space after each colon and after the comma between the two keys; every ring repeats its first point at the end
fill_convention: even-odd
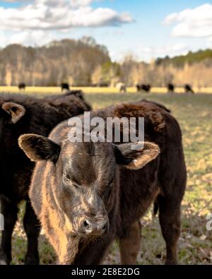
{"type": "Polygon", "coordinates": [[[37,220],[37,217],[29,200],[26,202],[23,226],[28,237],[28,250],[25,256],[25,264],[39,264],[38,237],[40,234],[40,222],[37,220]]]}

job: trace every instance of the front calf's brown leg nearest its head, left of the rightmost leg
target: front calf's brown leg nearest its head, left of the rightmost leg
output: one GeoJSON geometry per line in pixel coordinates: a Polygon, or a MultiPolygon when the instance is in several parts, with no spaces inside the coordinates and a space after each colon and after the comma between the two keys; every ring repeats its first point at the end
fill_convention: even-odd
{"type": "Polygon", "coordinates": [[[134,222],[119,239],[122,264],[136,264],[141,244],[141,224],[134,222]]]}

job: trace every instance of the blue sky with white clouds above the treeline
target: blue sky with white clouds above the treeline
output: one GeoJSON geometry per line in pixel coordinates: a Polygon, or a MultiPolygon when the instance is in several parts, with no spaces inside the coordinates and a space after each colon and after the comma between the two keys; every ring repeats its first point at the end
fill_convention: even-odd
{"type": "Polygon", "coordinates": [[[92,36],[113,61],[140,61],[212,49],[212,1],[0,1],[0,47],[40,46],[92,36]]]}

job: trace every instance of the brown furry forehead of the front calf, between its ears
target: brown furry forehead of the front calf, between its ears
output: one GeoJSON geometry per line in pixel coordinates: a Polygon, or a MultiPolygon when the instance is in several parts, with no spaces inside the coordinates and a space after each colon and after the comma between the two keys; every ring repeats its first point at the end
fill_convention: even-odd
{"type": "Polygon", "coordinates": [[[110,143],[64,142],[61,161],[65,172],[81,184],[106,182],[115,172],[114,151],[110,143]]]}

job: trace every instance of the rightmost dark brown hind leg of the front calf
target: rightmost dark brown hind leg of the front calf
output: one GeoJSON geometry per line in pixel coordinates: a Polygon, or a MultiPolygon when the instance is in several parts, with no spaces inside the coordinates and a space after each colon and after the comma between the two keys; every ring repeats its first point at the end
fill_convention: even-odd
{"type": "Polygon", "coordinates": [[[166,244],[165,264],[177,264],[177,240],[180,235],[180,203],[174,198],[158,197],[159,220],[166,244]]]}

